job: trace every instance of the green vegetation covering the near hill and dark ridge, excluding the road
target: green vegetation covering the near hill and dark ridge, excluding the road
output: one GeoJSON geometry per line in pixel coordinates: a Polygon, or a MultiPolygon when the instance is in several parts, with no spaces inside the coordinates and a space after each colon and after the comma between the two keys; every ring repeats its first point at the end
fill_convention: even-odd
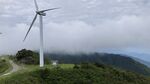
{"type": "MultiPolygon", "coordinates": [[[[26,49],[18,51],[16,56],[11,57],[11,59],[17,63],[22,63],[21,69],[10,75],[0,77],[0,84],[150,83],[150,78],[144,76],[147,73],[149,75],[149,68],[129,57],[98,53],[52,56],[59,57],[58,59],[52,57],[52,59],[59,60],[61,64],[56,67],[46,63],[44,68],[39,68],[37,53],[26,49]]],[[[8,68],[10,67],[8,60],[0,60],[0,71],[8,70],[5,68],[7,66],[3,66],[5,64],[8,64],[8,68]]]]}

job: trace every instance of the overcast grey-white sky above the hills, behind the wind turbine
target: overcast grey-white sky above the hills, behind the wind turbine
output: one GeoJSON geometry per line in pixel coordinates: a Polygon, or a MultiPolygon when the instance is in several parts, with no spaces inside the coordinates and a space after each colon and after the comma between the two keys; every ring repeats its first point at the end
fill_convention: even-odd
{"type": "MultiPolygon", "coordinates": [[[[37,1],[61,7],[44,17],[45,51],[150,54],[150,0],[37,1]]],[[[0,0],[0,54],[39,50],[38,19],[22,42],[34,15],[33,0],[0,0]]]]}

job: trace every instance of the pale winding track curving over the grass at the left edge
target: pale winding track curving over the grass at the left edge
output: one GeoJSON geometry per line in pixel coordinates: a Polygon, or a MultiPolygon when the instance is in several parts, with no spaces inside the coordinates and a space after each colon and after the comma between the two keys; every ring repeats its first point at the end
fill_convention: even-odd
{"type": "Polygon", "coordinates": [[[21,67],[18,66],[17,64],[15,64],[12,60],[9,60],[9,63],[12,66],[12,69],[9,72],[7,72],[7,73],[5,73],[1,76],[6,76],[6,75],[9,75],[9,74],[12,74],[12,73],[17,72],[18,70],[21,69],[21,67]]]}

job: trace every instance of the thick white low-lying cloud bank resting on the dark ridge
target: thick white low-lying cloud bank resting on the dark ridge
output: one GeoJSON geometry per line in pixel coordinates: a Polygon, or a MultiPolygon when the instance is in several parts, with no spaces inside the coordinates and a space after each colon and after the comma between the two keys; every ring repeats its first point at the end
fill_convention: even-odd
{"type": "MultiPolygon", "coordinates": [[[[46,51],[92,52],[109,48],[149,48],[149,17],[123,16],[120,19],[90,25],[83,21],[49,22],[44,28],[46,51]]],[[[34,26],[22,40],[29,25],[17,24],[1,36],[1,53],[22,48],[39,48],[39,29],[34,26]]]]}

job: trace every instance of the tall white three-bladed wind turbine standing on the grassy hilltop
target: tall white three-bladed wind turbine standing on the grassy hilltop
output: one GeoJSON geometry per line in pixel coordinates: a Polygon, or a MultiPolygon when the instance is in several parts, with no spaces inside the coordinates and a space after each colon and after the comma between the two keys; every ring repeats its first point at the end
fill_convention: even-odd
{"type": "Polygon", "coordinates": [[[44,66],[44,51],[43,51],[43,16],[46,16],[46,13],[47,11],[51,11],[51,10],[55,10],[55,9],[59,9],[59,8],[51,8],[51,9],[46,9],[46,10],[39,10],[39,7],[38,7],[38,4],[37,4],[37,1],[34,0],[34,3],[35,3],[35,7],[36,7],[36,14],[35,14],[35,17],[25,35],[25,38],[23,41],[26,40],[33,24],[35,23],[37,17],[39,16],[39,22],[40,22],[40,67],[43,67],[44,66]]]}

